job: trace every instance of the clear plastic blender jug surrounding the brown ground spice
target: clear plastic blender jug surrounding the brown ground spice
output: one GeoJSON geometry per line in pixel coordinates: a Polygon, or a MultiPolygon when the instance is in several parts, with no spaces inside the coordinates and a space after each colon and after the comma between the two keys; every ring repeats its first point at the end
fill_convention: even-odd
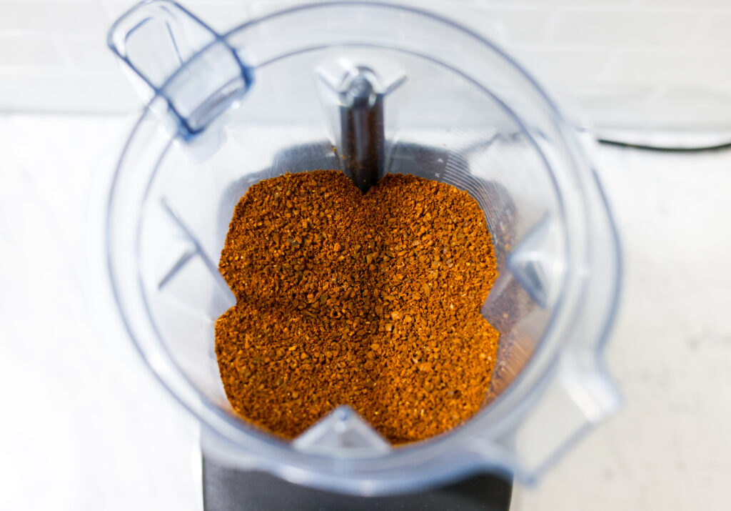
{"type": "Polygon", "coordinates": [[[110,279],[149,368],[202,426],[205,455],[237,469],[357,495],[480,471],[534,480],[620,402],[602,363],[620,255],[584,136],[490,41],[408,7],[333,2],[227,34],[172,1],[110,29],[147,107],[118,164],[107,217],[110,279]],[[499,330],[485,406],[393,447],[347,406],[294,441],[235,416],[213,325],[235,299],[217,271],[247,187],[341,169],[466,190],[499,264],[482,314],[499,330]]]}

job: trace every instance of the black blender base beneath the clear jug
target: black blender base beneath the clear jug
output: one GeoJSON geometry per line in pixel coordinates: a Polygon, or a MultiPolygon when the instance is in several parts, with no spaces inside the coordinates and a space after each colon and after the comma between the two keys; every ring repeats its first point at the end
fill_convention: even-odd
{"type": "Polygon", "coordinates": [[[491,474],[479,474],[421,493],[357,497],[306,488],[263,472],[230,469],[203,458],[205,511],[508,511],[511,494],[512,482],[491,474]]]}

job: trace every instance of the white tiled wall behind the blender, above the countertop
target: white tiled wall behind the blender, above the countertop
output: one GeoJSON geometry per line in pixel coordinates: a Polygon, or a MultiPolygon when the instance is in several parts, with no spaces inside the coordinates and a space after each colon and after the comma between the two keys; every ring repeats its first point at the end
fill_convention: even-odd
{"type": "MultiPolygon", "coordinates": [[[[224,31],[300,1],[183,4],[224,31]]],[[[583,105],[596,124],[643,127],[643,116],[650,116],[681,128],[697,109],[703,117],[694,126],[731,127],[730,0],[401,1],[497,40],[553,90],[583,105]],[[602,97],[611,115],[596,108],[602,97]]],[[[138,108],[105,45],[107,27],[135,3],[0,0],[0,92],[6,92],[0,111],[138,108]]]]}

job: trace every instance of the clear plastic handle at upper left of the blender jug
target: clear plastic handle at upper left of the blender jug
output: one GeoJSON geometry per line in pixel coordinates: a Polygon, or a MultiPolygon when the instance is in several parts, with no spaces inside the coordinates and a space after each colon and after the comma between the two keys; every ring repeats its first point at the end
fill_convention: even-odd
{"type": "Polygon", "coordinates": [[[111,26],[107,45],[132,71],[144,100],[167,102],[184,138],[204,130],[253,83],[251,67],[225,38],[172,0],[132,7],[111,26]]]}

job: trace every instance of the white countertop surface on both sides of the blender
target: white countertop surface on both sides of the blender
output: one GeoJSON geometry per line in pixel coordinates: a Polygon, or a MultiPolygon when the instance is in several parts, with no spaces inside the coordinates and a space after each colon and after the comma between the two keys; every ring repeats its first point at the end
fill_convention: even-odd
{"type": "MultiPolygon", "coordinates": [[[[202,507],[197,425],[148,373],[98,240],[132,117],[0,115],[0,509],[202,507]]],[[[725,510],[731,152],[600,147],[624,247],[607,348],[626,403],[520,510],[725,510]]]]}

